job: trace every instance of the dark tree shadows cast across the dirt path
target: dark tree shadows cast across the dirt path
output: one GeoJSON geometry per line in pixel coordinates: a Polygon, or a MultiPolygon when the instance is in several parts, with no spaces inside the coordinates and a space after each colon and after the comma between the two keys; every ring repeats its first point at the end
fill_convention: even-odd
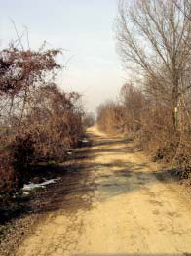
{"type": "MultiPolygon", "coordinates": [[[[49,167],[49,172],[54,174],[54,177],[60,177],[60,181],[43,191],[35,192],[28,201],[24,202],[26,213],[46,213],[55,210],[72,212],[79,209],[89,211],[93,207],[92,202],[96,190],[100,192],[101,200],[107,200],[119,194],[141,190],[148,184],[158,182],[159,179],[169,182],[170,175],[165,170],[155,173],[143,171],[149,168],[147,162],[134,164],[128,159],[125,162],[121,160],[109,163],[95,162],[95,157],[103,152],[107,155],[111,152],[134,152],[134,147],[129,144],[131,139],[104,140],[100,138],[99,140],[98,136],[94,137],[96,138],[93,140],[96,142],[93,149],[79,149],[75,152],[75,160],[49,167]],[[112,148],[116,144],[121,144],[120,149],[112,148]],[[99,146],[104,146],[104,148],[99,146]],[[166,178],[163,179],[163,177],[166,178]],[[133,182],[132,179],[135,181],[133,182]]],[[[44,171],[46,173],[46,170],[44,171]]]]}

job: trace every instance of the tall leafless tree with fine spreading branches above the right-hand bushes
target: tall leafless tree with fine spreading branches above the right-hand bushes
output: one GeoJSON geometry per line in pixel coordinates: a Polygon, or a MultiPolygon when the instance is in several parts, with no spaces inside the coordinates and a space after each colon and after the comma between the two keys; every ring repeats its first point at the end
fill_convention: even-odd
{"type": "Polygon", "coordinates": [[[165,96],[173,115],[191,87],[187,78],[190,15],[189,0],[119,1],[117,48],[121,59],[126,67],[138,70],[145,81],[155,80],[149,93],[165,96]]]}

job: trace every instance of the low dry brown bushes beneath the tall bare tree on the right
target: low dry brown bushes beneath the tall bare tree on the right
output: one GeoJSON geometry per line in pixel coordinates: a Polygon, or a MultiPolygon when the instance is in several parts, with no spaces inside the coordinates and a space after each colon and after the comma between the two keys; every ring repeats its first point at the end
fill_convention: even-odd
{"type": "Polygon", "coordinates": [[[182,178],[190,177],[191,129],[185,110],[182,109],[184,115],[179,119],[183,127],[176,129],[172,107],[167,102],[160,103],[133,85],[123,86],[119,99],[119,104],[107,102],[98,107],[99,128],[107,132],[123,130],[124,134],[134,136],[138,147],[149,152],[154,160],[175,166],[182,178]]]}

